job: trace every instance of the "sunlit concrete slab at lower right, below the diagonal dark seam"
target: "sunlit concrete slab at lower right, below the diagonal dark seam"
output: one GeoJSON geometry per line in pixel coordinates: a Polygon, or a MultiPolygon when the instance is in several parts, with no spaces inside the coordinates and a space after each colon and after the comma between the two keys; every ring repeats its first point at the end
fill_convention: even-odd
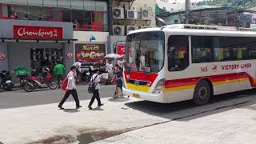
{"type": "Polygon", "coordinates": [[[182,118],[120,134],[95,144],[254,144],[256,104],[211,114],[182,118]]]}

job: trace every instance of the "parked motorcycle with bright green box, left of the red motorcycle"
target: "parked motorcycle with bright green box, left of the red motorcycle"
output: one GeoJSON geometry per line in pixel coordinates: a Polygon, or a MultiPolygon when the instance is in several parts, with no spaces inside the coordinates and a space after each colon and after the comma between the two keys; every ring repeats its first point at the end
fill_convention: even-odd
{"type": "Polygon", "coordinates": [[[24,86],[26,82],[26,78],[29,75],[28,70],[26,70],[26,67],[17,67],[13,70],[13,73],[17,75],[17,78],[19,79],[20,86],[24,86]]]}

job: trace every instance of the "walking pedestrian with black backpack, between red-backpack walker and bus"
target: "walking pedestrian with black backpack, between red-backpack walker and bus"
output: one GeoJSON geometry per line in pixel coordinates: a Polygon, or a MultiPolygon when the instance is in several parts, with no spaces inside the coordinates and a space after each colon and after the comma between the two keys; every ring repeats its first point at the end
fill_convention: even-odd
{"type": "Polygon", "coordinates": [[[90,110],[92,110],[93,108],[91,106],[93,105],[95,98],[98,101],[98,106],[103,106],[103,104],[101,102],[101,98],[99,97],[99,93],[98,93],[99,83],[101,82],[101,76],[99,75],[99,70],[98,69],[96,69],[94,71],[94,75],[90,78],[90,81],[91,82],[93,81],[94,86],[95,86],[95,89],[94,89],[94,92],[93,92],[93,97],[90,99],[90,104],[88,106],[88,108],[90,110]]]}

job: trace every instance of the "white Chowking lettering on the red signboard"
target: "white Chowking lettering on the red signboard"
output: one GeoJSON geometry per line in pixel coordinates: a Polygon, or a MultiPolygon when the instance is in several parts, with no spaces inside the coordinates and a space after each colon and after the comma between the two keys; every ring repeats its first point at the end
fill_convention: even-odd
{"type": "Polygon", "coordinates": [[[57,37],[57,30],[45,32],[42,29],[39,29],[37,32],[26,30],[25,27],[21,27],[18,29],[18,36],[22,37],[24,35],[34,36],[37,35],[39,37],[43,37],[44,35],[50,37],[57,37]]]}

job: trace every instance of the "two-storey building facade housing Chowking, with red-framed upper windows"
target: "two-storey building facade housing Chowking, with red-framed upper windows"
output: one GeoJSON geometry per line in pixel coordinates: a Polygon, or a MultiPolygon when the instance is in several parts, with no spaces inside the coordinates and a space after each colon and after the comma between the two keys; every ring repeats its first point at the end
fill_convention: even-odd
{"type": "MultiPolygon", "coordinates": [[[[78,60],[79,44],[101,44],[106,49],[107,3],[104,0],[0,1],[0,70],[14,70],[17,66],[41,70],[47,61],[50,66],[61,61],[68,68],[78,60]],[[16,34],[19,28],[25,30],[22,37],[16,34]],[[30,36],[40,30],[46,35],[57,31],[58,37],[30,36]]],[[[102,53],[106,54],[106,50],[102,53]]]]}

